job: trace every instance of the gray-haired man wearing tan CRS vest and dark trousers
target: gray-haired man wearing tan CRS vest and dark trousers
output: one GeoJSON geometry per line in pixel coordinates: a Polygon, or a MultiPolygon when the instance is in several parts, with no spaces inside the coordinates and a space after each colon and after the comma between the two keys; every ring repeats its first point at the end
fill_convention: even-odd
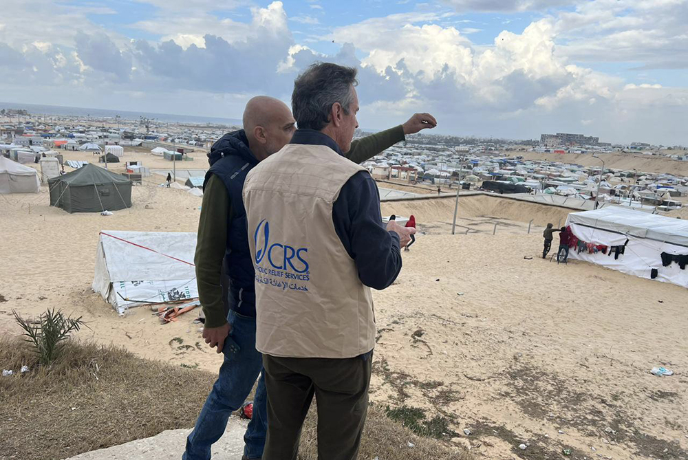
{"type": "Polygon", "coordinates": [[[341,155],[358,127],[356,83],[356,69],[330,63],[301,74],[298,131],[244,185],[268,392],[264,460],[297,458],[313,395],[319,459],[356,458],[376,332],[370,287],[394,282],[415,232],[385,228],[374,180],[341,155]]]}

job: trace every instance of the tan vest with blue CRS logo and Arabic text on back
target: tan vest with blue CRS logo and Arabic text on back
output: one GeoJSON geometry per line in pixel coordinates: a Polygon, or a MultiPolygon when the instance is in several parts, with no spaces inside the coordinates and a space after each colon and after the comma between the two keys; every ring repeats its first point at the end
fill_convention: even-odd
{"type": "Polygon", "coordinates": [[[288,144],[246,176],[261,353],[353,358],[374,348],[370,288],[332,221],[332,204],[358,171],[327,146],[288,144]]]}

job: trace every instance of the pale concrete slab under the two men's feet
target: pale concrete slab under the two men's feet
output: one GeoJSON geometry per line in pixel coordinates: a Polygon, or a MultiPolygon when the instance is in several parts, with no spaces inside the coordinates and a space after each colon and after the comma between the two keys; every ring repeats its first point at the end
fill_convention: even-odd
{"type": "MultiPolygon", "coordinates": [[[[230,417],[224,436],[213,445],[213,458],[241,460],[244,454],[244,432],[247,420],[230,417]]],[[[180,460],[186,437],[191,430],[167,430],[145,439],[137,439],[120,446],[93,450],[67,460],[180,460]]]]}

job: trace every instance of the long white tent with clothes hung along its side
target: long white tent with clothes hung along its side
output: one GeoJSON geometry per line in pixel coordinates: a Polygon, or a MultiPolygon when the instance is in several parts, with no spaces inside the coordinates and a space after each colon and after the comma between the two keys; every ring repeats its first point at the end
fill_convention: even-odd
{"type": "Polygon", "coordinates": [[[573,212],[566,221],[583,243],[607,246],[607,254],[572,248],[570,259],[688,287],[688,221],[621,206],[573,212]]]}

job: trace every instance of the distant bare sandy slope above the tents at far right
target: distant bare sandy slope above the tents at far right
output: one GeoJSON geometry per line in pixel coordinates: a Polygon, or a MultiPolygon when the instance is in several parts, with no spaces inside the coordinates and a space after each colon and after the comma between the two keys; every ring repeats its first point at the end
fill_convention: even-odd
{"type": "MultiPolygon", "coordinates": [[[[671,151],[678,155],[685,155],[686,151],[671,151]]],[[[590,153],[518,153],[525,160],[541,160],[548,162],[561,162],[580,164],[581,166],[602,166],[600,160],[593,158],[590,153]]],[[[659,155],[642,155],[640,153],[605,153],[601,155],[605,161],[605,167],[632,171],[637,169],[644,173],[669,173],[688,176],[688,162],[671,160],[659,155]]]]}

